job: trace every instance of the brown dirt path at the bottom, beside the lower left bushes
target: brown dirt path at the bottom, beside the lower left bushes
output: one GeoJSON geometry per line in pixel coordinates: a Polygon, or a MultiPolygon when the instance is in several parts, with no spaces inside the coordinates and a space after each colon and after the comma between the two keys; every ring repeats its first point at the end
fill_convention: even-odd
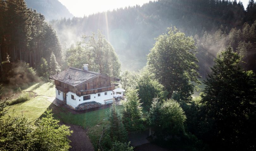
{"type": "MultiPolygon", "coordinates": [[[[61,123],[63,124],[63,123],[61,123]]],[[[93,145],[86,135],[86,131],[81,126],[76,126],[72,124],[65,124],[66,126],[70,126],[70,130],[73,131],[70,139],[71,148],[70,151],[94,151],[93,145]]]]}

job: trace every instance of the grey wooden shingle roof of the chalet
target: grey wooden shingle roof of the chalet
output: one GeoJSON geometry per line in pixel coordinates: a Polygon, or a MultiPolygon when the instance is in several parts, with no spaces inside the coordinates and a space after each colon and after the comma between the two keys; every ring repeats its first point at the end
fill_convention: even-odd
{"type": "MultiPolygon", "coordinates": [[[[79,85],[93,77],[96,77],[98,75],[104,76],[97,72],[92,72],[92,71],[69,67],[68,69],[61,71],[58,74],[50,76],[49,78],[52,80],[61,81],[70,86],[76,87],[77,85],[79,85]]],[[[108,77],[108,76],[106,76],[106,77],[108,77]]],[[[116,78],[113,78],[113,79],[116,81],[119,81],[119,79],[116,79],[116,78]]]]}

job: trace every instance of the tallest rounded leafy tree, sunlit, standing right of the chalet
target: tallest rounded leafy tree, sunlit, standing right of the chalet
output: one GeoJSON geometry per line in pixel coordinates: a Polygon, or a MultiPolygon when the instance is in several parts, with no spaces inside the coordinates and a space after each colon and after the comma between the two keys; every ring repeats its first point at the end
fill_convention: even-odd
{"type": "Polygon", "coordinates": [[[192,81],[200,83],[198,77],[198,62],[195,51],[196,46],[192,37],[175,27],[168,28],[168,33],[156,38],[155,46],[148,54],[150,70],[169,92],[179,93],[181,100],[191,100],[194,85],[192,81]]]}

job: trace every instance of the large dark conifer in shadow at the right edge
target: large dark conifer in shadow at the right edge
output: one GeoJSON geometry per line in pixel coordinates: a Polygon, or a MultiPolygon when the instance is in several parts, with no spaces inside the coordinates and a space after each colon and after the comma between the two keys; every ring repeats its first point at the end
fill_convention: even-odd
{"type": "Polygon", "coordinates": [[[230,46],[218,54],[211,70],[201,95],[209,141],[222,149],[254,150],[255,74],[242,70],[241,57],[230,46]]]}

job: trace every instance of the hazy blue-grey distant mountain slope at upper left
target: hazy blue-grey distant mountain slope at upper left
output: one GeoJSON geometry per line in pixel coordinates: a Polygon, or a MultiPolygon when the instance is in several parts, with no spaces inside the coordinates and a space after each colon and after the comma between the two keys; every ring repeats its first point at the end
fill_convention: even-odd
{"type": "Polygon", "coordinates": [[[27,7],[36,9],[44,14],[46,20],[57,20],[61,18],[72,18],[73,14],[58,0],[26,0],[27,7]]]}

